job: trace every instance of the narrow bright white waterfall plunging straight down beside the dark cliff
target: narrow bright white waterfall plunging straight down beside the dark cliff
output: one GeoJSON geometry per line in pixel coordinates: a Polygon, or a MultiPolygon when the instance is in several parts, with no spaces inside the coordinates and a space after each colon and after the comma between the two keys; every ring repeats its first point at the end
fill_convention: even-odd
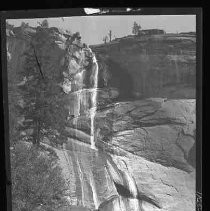
{"type": "Polygon", "coordinates": [[[96,60],[95,55],[93,55],[93,75],[92,75],[92,80],[93,80],[93,91],[91,93],[91,101],[92,101],[92,108],[90,109],[90,119],[91,119],[91,134],[90,134],[90,143],[91,143],[91,148],[96,149],[95,147],[95,126],[94,126],[94,120],[95,120],[95,115],[97,111],[97,87],[98,87],[98,63],[96,60]]]}

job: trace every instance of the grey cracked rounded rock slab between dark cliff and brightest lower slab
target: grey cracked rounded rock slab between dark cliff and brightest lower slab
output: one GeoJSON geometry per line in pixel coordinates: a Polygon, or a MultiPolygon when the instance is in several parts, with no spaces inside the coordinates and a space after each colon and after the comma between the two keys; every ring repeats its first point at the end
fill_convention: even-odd
{"type": "Polygon", "coordinates": [[[115,104],[112,115],[108,114],[111,144],[191,172],[188,154],[195,144],[195,100],[125,102],[115,104]]]}

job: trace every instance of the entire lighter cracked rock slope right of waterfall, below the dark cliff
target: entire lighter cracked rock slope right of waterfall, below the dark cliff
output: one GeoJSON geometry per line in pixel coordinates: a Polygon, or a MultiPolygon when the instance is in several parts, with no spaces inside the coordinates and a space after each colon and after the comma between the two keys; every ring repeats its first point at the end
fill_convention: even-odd
{"type": "MultiPolygon", "coordinates": [[[[115,163],[126,161],[138,189],[154,195],[161,210],[195,210],[195,169],[189,161],[195,100],[147,99],[117,103],[109,111],[112,115],[98,113],[113,123],[108,142],[127,152],[113,156],[115,163]]],[[[142,206],[159,210],[146,202],[142,206]]]]}

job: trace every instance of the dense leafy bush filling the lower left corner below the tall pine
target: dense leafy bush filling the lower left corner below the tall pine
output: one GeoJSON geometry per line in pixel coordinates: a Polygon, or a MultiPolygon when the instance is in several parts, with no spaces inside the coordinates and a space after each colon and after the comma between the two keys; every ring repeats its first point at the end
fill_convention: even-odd
{"type": "Polygon", "coordinates": [[[10,152],[13,210],[59,210],[67,206],[67,186],[57,157],[18,142],[10,152]]]}

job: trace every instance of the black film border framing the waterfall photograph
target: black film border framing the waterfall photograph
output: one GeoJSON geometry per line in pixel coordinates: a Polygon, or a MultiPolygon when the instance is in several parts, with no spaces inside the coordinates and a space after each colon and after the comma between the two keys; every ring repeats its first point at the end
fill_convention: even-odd
{"type": "MultiPolygon", "coordinates": [[[[98,8],[98,7],[96,7],[98,8]]],[[[19,10],[1,12],[1,83],[2,83],[2,112],[1,119],[4,127],[1,127],[2,140],[0,161],[1,167],[1,200],[5,210],[12,211],[11,206],[11,176],[9,155],[9,111],[8,111],[8,83],[7,83],[7,55],[6,55],[6,20],[27,18],[52,18],[70,16],[101,16],[101,15],[196,15],[196,204],[202,199],[202,87],[203,87],[203,9],[201,7],[138,7],[127,12],[126,8],[101,8],[108,12],[104,14],[87,15],[83,8],[71,9],[44,9],[44,10],[19,10]],[[139,10],[138,10],[139,9],[139,10]]],[[[1,206],[2,210],[2,206],[1,206]]],[[[200,210],[197,207],[196,210],[200,210]]]]}

